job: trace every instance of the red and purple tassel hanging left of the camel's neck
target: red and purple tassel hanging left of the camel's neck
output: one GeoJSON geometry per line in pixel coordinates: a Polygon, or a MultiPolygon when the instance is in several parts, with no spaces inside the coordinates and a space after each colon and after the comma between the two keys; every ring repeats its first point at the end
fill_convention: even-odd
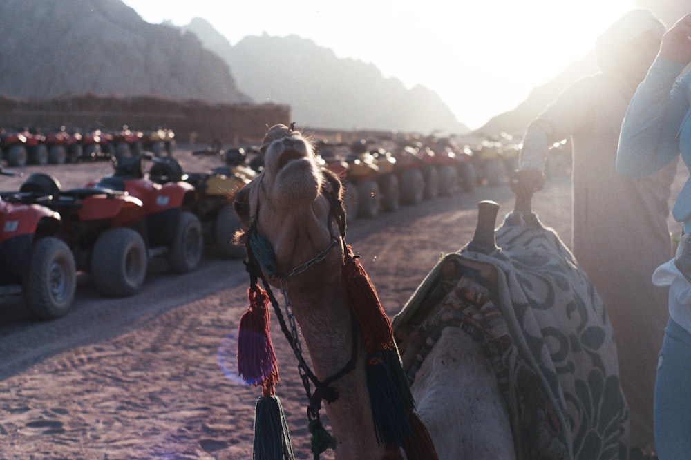
{"type": "Polygon", "coordinates": [[[258,285],[248,291],[249,309],[240,318],[238,373],[252,385],[262,385],[263,396],[272,396],[278,383],[278,365],[269,334],[269,296],[258,285]]]}

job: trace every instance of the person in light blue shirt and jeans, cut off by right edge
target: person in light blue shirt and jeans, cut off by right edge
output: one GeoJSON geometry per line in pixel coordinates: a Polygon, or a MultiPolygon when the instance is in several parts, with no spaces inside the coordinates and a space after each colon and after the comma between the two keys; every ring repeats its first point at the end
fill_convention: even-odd
{"type": "MultiPolygon", "coordinates": [[[[654,63],[624,118],[616,157],[619,173],[637,180],[681,159],[691,165],[691,15],[665,33],[654,63]],[[679,75],[681,78],[679,78],[679,75]]],[[[674,258],[652,276],[669,286],[670,319],[655,383],[655,445],[661,460],[691,459],[691,180],[672,215],[683,223],[674,258]]]]}

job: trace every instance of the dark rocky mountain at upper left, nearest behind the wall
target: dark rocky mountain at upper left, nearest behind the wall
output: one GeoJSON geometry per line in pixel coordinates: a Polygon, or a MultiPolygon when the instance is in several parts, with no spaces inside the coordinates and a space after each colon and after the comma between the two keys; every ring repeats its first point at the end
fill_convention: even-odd
{"type": "Polygon", "coordinates": [[[0,93],[249,103],[191,32],[152,25],[120,0],[0,1],[0,93]]]}

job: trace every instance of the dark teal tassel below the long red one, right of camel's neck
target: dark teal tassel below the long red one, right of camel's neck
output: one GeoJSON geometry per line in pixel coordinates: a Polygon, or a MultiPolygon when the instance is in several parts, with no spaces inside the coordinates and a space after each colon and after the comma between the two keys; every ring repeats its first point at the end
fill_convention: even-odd
{"type": "Polygon", "coordinates": [[[377,441],[386,445],[403,445],[412,434],[408,411],[403,396],[394,385],[390,369],[384,363],[382,352],[368,356],[366,374],[377,441]]]}

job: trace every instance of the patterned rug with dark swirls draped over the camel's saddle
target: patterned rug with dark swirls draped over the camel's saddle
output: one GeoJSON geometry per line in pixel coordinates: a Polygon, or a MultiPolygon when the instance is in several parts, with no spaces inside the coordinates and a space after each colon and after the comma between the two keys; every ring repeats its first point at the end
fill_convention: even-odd
{"type": "Polygon", "coordinates": [[[420,344],[401,347],[408,378],[445,327],[461,327],[493,366],[518,459],[626,459],[616,345],[594,287],[534,214],[507,215],[495,238],[500,251],[442,258],[395,317],[397,338],[420,344]],[[495,285],[468,261],[494,267],[495,285]]]}

